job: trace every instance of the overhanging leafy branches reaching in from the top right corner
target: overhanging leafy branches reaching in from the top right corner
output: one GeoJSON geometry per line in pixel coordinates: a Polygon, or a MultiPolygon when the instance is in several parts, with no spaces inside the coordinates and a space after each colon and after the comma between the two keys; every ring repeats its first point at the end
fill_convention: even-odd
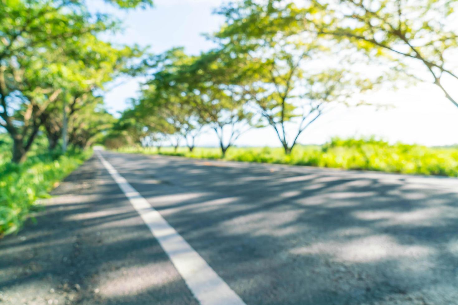
{"type": "MultiPolygon", "coordinates": [[[[457,99],[443,85],[444,77],[458,80],[454,60],[458,51],[457,1],[310,0],[302,2],[303,6],[291,0],[261,2],[268,7],[261,22],[270,16],[267,24],[334,39],[341,43],[340,48],[354,46],[371,63],[379,60],[398,73],[425,82],[432,80],[458,107],[457,99]]],[[[259,1],[244,3],[256,6],[259,1]]],[[[233,17],[237,12],[224,10],[233,17]]]]}

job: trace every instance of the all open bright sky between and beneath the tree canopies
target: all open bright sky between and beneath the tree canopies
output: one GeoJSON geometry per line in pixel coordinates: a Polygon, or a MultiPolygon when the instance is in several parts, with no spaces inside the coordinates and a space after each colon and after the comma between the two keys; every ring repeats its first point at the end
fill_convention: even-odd
{"type": "MultiPolygon", "coordinates": [[[[215,32],[223,23],[212,14],[222,0],[155,0],[155,7],[146,10],[119,11],[101,0],[91,0],[93,11],[110,11],[124,23],[124,31],[109,37],[116,43],[150,46],[153,53],[184,46],[188,54],[199,54],[213,47],[202,33],[215,32]]],[[[128,99],[137,96],[142,79],[123,81],[105,94],[110,112],[122,111],[128,99]]],[[[445,83],[446,86],[456,86],[445,83]]],[[[458,96],[458,88],[452,91],[458,96]]],[[[333,136],[368,137],[375,135],[389,142],[451,145],[458,143],[458,108],[453,106],[432,84],[420,83],[398,91],[378,91],[367,97],[370,102],[389,103],[386,110],[371,106],[338,106],[310,125],[300,137],[302,144],[322,144],[333,136]]],[[[202,134],[198,145],[216,146],[211,132],[202,134]]],[[[252,129],[236,142],[240,146],[278,146],[270,127],[252,129]]]]}

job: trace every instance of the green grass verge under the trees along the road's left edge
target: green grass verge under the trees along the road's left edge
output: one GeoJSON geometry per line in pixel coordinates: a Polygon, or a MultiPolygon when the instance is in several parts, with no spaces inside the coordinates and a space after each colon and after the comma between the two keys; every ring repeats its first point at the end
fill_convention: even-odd
{"type": "Polygon", "coordinates": [[[65,155],[40,154],[46,151],[38,141],[27,161],[17,165],[11,159],[11,143],[0,134],[0,237],[17,232],[30,213],[40,207],[40,198],[71,171],[75,170],[91,152],[69,152],[65,155]]]}

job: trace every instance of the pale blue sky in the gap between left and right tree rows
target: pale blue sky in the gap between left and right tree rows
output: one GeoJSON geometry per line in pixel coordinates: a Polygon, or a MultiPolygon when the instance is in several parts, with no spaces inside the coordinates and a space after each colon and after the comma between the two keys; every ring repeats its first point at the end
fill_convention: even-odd
{"type": "MultiPolygon", "coordinates": [[[[213,15],[213,10],[220,0],[155,0],[154,8],[121,11],[114,9],[102,0],[88,1],[92,11],[110,12],[123,21],[124,30],[114,37],[105,37],[115,43],[132,45],[137,43],[149,46],[154,54],[169,48],[184,46],[189,54],[199,54],[214,45],[202,36],[213,32],[223,23],[220,16],[213,15]]],[[[105,95],[105,101],[111,112],[118,112],[126,107],[126,100],[136,95],[138,81],[122,81],[105,95]]]]}

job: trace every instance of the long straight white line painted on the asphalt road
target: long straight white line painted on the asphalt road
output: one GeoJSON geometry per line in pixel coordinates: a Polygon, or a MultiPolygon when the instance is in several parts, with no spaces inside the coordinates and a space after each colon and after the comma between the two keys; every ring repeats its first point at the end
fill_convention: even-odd
{"type": "Polygon", "coordinates": [[[200,304],[245,305],[234,290],[230,289],[196,250],[105,160],[99,151],[96,151],[96,155],[140,214],[200,304]]]}

